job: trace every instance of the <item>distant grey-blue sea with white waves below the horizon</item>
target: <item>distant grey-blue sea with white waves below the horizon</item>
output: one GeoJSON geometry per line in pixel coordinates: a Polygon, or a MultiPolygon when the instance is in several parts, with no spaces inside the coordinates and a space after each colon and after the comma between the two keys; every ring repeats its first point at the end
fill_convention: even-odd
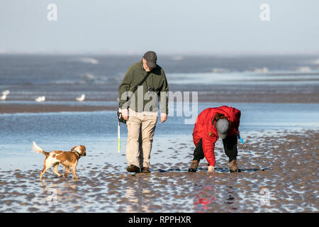
{"type": "MultiPolygon", "coordinates": [[[[0,55],[0,91],[11,101],[87,99],[116,101],[118,85],[130,65],[142,56],[0,55]]],[[[182,56],[158,55],[170,88],[193,84],[278,83],[318,84],[319,56],[182,56]],[[297,81],[297,82],[296,82],[297,81]]]]}

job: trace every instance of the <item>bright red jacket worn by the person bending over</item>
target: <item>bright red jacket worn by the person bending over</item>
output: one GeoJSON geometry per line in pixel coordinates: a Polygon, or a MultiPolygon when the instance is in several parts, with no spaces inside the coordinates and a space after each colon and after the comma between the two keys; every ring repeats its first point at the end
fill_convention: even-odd
{"type": "MultiPolygon", "coordinates": [[[[216,114],[224,114],[230,122],[228,135],[235,135],[240,125],[240,110],[228,106],[205,109],[196,118],[193,141],[196,146],[199,140],[203,142],[203,153],[209,165],[215,166],[214,148],[218,140],[215,126],[212,126],[216,114]]],[[[215,125],[215,123],[214,123],[215,125]]]]}

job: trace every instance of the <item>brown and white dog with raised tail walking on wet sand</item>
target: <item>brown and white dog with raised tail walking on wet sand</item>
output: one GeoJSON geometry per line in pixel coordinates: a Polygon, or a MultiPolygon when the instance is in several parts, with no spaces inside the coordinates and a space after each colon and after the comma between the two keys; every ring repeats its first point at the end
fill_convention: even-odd
{"type": "Polygon", "coordinates": [[[65,167],[65,175],[63,175],[64,178],[69,175],[69,167],[71,167],[73,177],[74,179],[77,179],[77,162],[80,157],[86,155],[86,148],[84,145],[74,146],[71,151],[55,150],[51,152],[45,152],[33,142],[33,151],[36,153],[43,153],[43,155],[45,155],[44,167],[40,173],[40,180],[42,180],[45,171],[49,170],[52,165],[54,166],[53,172],[55,175],[57,175],[57,177],[62,177],[62,175],[57,172],[57,167],[59,167],[60,163],[65,167]]]}

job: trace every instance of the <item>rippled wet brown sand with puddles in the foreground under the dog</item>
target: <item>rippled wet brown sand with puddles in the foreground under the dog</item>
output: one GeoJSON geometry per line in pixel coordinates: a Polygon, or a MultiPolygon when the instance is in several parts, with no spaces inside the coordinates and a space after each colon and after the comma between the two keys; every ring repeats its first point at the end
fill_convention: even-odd
{"type": "Polygon", "coordinates": [[[155,140],[151,174],[130,174],[94,151],[83,157],[87,165],[79,160],[76,181],[51,169],[40,182],[42,162],[1,168],[0,212],[318,212],[318,138],[318,131],[250,133],[252,154],[238,144],[240,172],[233,173],[220,143],[216,172],[206,161],[187,172],[194,145],[174,137],[155,140]]]}

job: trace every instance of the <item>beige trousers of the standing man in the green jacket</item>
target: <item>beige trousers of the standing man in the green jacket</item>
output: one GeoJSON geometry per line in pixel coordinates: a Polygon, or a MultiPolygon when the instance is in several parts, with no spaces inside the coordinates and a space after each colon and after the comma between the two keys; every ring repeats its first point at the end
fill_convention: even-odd
{"type": "Polygon", "coordinates": [[[137,113],[129,109],[128,143],[126,144],[126,158],[128,165],[150,167],[150,152],[157,123],[157,113],[137,113]]]}

